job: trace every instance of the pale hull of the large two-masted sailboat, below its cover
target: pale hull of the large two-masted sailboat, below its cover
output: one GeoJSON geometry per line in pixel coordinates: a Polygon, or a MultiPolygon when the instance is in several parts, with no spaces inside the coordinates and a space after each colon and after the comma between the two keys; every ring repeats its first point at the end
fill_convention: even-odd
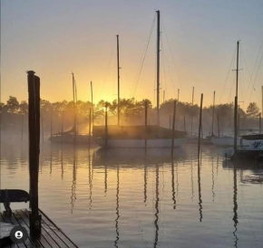
{"type": "MultiPolygon", "coordinates": [[[[96,143],[102,148],[106,147],[104,138],[95,138],[96,143]]],[[[147,139],[147,148],[171,148],[172,138],[147,139]]],[[[186,138],[174,138],[174,148],[180,148],[186,138]]],[[[108,139],[107,148],[145,148],[144,139],[108,139]]]]}

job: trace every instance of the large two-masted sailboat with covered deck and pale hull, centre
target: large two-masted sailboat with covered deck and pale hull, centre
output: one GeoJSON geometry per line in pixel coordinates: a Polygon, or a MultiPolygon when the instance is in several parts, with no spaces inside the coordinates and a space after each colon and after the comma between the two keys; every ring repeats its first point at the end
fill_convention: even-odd
{"type": "Polygon", "coordinates": [[[160,11],[157,13],[157,123],[145,126],[120,125],[120,61],[119,35],[117,35],[117,69],[118,69],[118,125],[93,126],[93,139],[101,147],[107,148],[174,148],[181,147],[186,141],[186,132],[165,129],[160,126],[160,11]],[[147,144],[147,145],[146,145],[147,144]]]}

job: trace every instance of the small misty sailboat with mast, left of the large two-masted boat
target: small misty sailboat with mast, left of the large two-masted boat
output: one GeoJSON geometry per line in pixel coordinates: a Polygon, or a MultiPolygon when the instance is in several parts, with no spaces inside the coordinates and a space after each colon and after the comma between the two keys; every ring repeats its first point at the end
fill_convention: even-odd
{"type": "Polygon", "coordinates": [[[77,144],[89,144],[91,138],[89,134],[83,134],[78,132],[77,126],[77,87],[73,74],[73,128],[68,131],[63,131],[63,124],[61,132],[55,133],[52,135],[49,140],[52,143],[77,143],[77,144]]]}

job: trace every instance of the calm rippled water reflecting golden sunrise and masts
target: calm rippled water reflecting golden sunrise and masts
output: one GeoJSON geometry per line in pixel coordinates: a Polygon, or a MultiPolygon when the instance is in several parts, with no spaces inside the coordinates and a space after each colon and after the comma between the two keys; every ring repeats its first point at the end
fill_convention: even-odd
{"type": "MultiPolygon", "coordinates": [[[[1,187],[28,191],[26,146],[1,153],[1,187]]],[[[165,149],[41,148],[40,208],[80,247],[262,247],[262,182],[262,165],[234,169],[214,147],[200,167],[192,145],[173,160],[165,149]]]]}

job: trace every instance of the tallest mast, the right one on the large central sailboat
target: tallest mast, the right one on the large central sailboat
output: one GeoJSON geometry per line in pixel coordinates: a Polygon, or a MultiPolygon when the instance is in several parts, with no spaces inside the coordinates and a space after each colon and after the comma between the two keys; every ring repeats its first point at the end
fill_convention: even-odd
{"type": "Polygon", "coordinates": [[[157,13],[157,126],[160,126],[160,10],[157,13]]]}

